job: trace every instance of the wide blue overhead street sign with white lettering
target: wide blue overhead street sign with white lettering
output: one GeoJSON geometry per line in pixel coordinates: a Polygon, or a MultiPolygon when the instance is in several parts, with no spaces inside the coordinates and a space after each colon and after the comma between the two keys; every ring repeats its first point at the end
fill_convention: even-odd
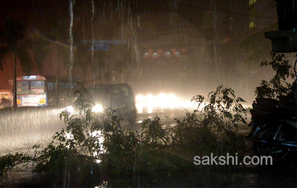
{"type": "MultiPolygon", "coordinates": [[[[109,45],[122,45],[122,40],[82,40],[83,44],[88,45],[89,51],[107,51],[109,45]]],[[[127,45],[127,40],[123,40],[123,44],[127,45]]]]}

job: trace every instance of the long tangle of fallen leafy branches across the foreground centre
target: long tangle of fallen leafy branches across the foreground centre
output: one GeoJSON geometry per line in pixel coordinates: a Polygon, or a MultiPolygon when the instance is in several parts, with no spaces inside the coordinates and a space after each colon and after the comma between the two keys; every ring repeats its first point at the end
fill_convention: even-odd
{"type": "MultiPolygon", "coordinates": [[[[143,120],[140,130],[125,130],[117,110],[92,112],[93,99],[86,90],[77,90],[75,95],[79,107],[76,113],[65,110],[60,114],[67,127],[55,133],[46,148],[34,145],[33,156],[26,159],[37,163],[38,172],[58,171],[55,174],[65,179],[63,170],[74,172],[82,165],[95,166],[100,160],[100,169],[112,176],[171,175],[193,168],[195,155],[235,153],[245,146],[236,134],[238,123],[245,123],[241,115],[245,109],[240,104],[244,100],[223,86],[210,92],[207,99],[194,96],[192,101],[198,108],[187,112],[181,121],[175,119],[177,125],[167,130],[158,116],[143,120]]],[[[4,161],[4,166],[13,167],[15,160],[11,161],[4,161]]]]}

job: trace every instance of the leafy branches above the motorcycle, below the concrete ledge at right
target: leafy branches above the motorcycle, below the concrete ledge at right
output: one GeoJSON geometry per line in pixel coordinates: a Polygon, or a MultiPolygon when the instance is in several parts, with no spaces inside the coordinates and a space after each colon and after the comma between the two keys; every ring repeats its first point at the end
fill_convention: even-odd
{"type": "Polygon", "coordinates": [[[269,82],[261,81],[260,86],[256,87],[256,96],[276,98],[278,95],[287,95],[288,93],[296,94],[296,76],[290,60],[288,60],[284,54],[275,52],[270,52],[270,54],[271,60],[261,62],[260,66],[271,66],[275,71],[275,75],[269,82]],[[287,81],[289,77],[294,80],[293,83],[287,81]]]}

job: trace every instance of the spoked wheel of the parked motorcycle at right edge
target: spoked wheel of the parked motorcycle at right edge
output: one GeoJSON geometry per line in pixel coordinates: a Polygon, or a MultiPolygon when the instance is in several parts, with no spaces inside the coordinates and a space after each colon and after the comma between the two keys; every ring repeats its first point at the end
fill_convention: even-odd
{"type": "MultiPolygon", "coordinates": [[[[266,128],[263,128],[263,130],[260,130],[256,138],[273,139],[277,131],[278,131],[278,128],[266,127],[266,128]]],[[[288,136],[284,131],[279,130],[279,133],[277,134],[275,139],[285,141],[288,139],[288,136]]],[[[287,150],[284,150],[279,146],[261,144],[259,142],[256,142],[255,140],[253,143],[253,148],[254,148],[254,153],[257,156],[264,156],[264,155],[271,156],[273,162],[284,161],[285,159],[287,159],[288,153],[289,153],[287,150]]]]}

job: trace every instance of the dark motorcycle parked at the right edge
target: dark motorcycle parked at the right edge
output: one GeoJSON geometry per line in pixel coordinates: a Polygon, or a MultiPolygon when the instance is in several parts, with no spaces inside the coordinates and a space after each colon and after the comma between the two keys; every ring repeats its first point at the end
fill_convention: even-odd
{"type": "Polygon", "coordinates": [[[278,99],[256,98],[250,109],[246,138],[254,138],[253,149],[258,156],[272,156],[274,162],[284,161],[297,152],[296,94],[281,95],[278,99]]]}

